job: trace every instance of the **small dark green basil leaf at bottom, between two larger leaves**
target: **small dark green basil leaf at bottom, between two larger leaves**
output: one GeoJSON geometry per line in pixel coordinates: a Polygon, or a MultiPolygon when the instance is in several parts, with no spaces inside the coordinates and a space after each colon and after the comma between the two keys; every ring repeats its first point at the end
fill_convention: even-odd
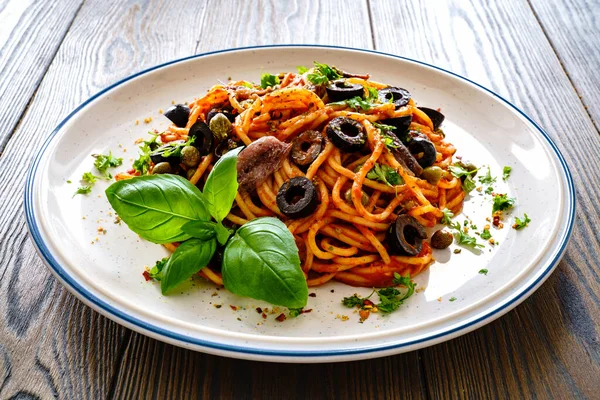
{"type": "Polygon", "coordinates": [[[215,239],[208,241],[190,239],[181,243],[162,270],[160,281],[162,294],[166,294],[206,267],[216,249],[215,239]]]}

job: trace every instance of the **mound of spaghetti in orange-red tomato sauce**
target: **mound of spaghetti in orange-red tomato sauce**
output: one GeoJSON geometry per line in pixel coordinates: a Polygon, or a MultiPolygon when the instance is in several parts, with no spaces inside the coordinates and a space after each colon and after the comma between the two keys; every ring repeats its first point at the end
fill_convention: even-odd
{"type": "MultiPolygon", "coordinates": [[[[209,120],[211,110],[227,110],[234,117],[227,139],[232,147],[251,146],[269,136],[293,144],[304,132],[316,131],[322,146],[308,165],[284,157],[266,179],[250,190],[238,192],[226,220],[231,225],[243,225],[263,216],[280,218],[296,239],[308,286],[332,279],[354,286],[389,286],[395,272],[413,277],[433,262],[426,241],[415,255],[399,254],[387,242],[399,215],[433,227],[442,218],[444,208],[454,214],[462,208],[465,192],[460,180],[448,171],[455,148],[412,98],[398,106],[395,93],[386,101],[390,86],[336,71],[340,78],[347,78],[338,79],[342,81],[338,84],[340,92],[359,85],[358,96],[332,101],[331,93],[323,91],[327,84],[310,81],[311,70],[280,74],[280,83],[267,88],[247,81],[229,82],[214,86],[191,102],[185,126],[172,124],[160,139],[162,143],[187,140],[196,122],[209,120]],[[365,133],[360,151],[346,151],[329,137],[328,127],[339,118],[360,125],[365,133]],[[400,118],[410,121],[404,139],[415,143],[425,140],[435,147],[435,159],[428,167],[437,167],[436,179],[426,179],[398,157],[398,147],[407,146],[397,142],[402,132],[394,132],[387,124],[400,118]],[[386,171],[395,180],[388,179],[386,171]],[[313,183],[318,204],[310,215],[292,219],[278,207],[277,195],[286,182],[298,177],[313,183]]],[[[202,189],[217,159],[211,151],[196,167],[181,164],[181,173],[202,189]]],[[[416,170],[423,170],[419,168],[415,165],[416,170]]],[[[175,247],[169,248],[172,251],[175,247]]],[[[200,274],[222,284],[219,268],[209,265],[200,274]]]]}

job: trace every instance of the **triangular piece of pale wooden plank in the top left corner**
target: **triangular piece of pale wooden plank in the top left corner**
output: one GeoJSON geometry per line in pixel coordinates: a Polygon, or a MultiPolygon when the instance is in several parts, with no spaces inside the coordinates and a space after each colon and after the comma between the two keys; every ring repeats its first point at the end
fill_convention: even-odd
{"type": "Polygon", "coordinates": [[[0,1],[0,154],[82,3],[0,1]]]}

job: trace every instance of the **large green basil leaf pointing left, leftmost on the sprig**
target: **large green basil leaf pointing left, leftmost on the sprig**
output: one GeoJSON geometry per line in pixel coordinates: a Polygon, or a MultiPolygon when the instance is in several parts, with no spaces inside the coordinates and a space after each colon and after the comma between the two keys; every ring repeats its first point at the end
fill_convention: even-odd
{"type": "Polygon", "coordinates": [[[137,176],[113,183],[106,197],[129,229],[154,243],[181,242],[189,221],[208,221],[202,193],[181,176],[137,176]]]}

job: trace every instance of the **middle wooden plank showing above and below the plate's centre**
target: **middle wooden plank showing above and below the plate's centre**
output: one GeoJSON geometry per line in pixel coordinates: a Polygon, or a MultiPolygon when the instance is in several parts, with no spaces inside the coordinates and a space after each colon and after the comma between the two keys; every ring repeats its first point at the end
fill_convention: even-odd
{"type": "MultiPolygon", "coordinates": [[[[241,9],[233,2],[213,1],[203,25],[198,52],[290,42],[372,48],[366,4],[359,2],[339,8],[327,1],[296,1],[286,7],[271,1],[241,9]],[[212,28],[223,19],[230,21],[230,30],[212,28]]],[[[416,352],[366,362],[273,364],[194,353],[134,333],[115,397],[421,398],[421,378],[416,352]]]]}

